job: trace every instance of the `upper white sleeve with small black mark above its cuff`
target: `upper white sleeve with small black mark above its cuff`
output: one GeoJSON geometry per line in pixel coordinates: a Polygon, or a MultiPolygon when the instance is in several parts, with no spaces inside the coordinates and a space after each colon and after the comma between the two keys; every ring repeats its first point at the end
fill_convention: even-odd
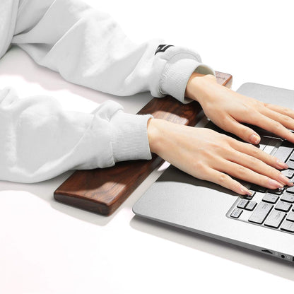
{"type": "Polygon", "coordinates": [[[23,0],[12,39],[67,81],[114,95],[149,90],[188,102],[184,92],[192,72],[214,71],[198,53],[160,42],[131,42],[108,14],[80,0],[23,0]]]}

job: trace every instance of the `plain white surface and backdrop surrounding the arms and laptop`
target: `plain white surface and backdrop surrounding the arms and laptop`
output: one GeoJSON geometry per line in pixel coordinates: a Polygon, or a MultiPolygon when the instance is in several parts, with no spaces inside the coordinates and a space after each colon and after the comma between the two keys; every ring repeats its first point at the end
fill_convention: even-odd
{"type": "MultiPolygon", "coordinates": [[[[291,1],[87,2],[110,12],[133,40],[163,38],[196,49],[204,63],[233,74],[233,90],[249,81],[294,89],[291,1]]],[[[135,113],[151,99],[71,85],[16,48],[0,61],[0,85],[23,97],[49,93],[85,112],[113,99],[135,113]]],[[[292,291],[292,264],[134,217],[131,206],[159,172],[108,218],[54,201],[69,175],[0,182],[1,294],[292,291]]]]}

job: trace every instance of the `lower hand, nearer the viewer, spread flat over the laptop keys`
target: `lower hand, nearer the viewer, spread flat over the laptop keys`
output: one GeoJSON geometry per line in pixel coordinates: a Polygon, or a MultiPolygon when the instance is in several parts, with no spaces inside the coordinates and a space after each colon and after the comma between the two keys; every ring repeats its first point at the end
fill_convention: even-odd
{"type": "Polygon", "coordinates": [[[238,194],[251,194],[232,177],[277,189],[293,186],[277,169],[288,168],[278,158],[249,143],[206,128],[187,127],[164,119],[148,120],[151,152],[201,180],[220,184],[238,194]]]}

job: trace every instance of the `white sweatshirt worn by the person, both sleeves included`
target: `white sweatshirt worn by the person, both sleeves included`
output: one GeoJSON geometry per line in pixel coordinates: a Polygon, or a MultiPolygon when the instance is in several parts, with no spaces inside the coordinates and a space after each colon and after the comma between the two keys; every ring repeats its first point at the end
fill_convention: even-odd
{"type": "MultiPolygon", "coordinates": [[[[168,94],[187,103],[192,72],[214,71],[196,52],[161,43],[131,42],[109,15],[83,1],[0,1],[0,58],[18,45],[67,81],[114,95],[168,94]]],[[[66,170],[151,159],[150,117],[124,113],[113,101],[92,114],[68,112],[54,98],[20,100],[12,88],[0,89],[0,180],[39,182],[66,170]]]]}

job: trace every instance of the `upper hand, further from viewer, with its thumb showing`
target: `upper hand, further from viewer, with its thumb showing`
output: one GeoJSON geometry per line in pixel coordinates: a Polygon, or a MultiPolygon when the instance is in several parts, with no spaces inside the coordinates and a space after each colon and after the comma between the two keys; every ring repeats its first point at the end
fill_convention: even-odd
{"type": "Polygon", "coordinates": [[[234,92],[216,82],[212,75],[193,73],[187,83],[186,95],[198,101],[206,117],[221,129],[244,141],[258,144],[256,131],[240,123],[254,124],[294,143],[294,111],[278,105],[266,104],[234,92]]]}

